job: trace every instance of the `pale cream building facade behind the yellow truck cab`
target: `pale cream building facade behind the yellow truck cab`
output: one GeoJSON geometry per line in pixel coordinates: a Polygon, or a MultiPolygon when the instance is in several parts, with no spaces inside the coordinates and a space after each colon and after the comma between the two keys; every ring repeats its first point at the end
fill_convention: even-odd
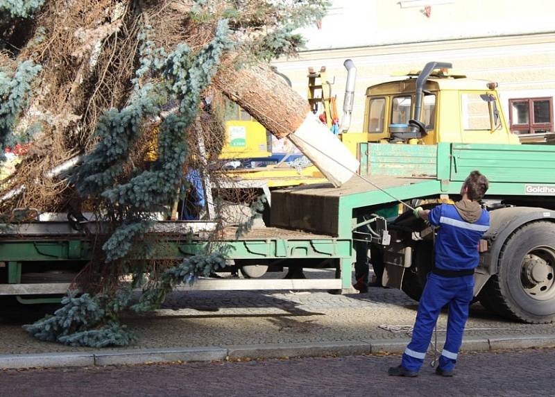
{"type": "Polygon", "coordinates": [[[341,109],[343,62],[352,59],[357,83],[351,130],[361,131],[366,87],[429,61],[450,62],[456,74],[499,84],[507,124],[525,140],[553,132],[554,19],[555,2],[540,0],[333,1],[318,26],[302,31],[307,48],[273,65],[303,96],[308,68],[325,66],[341,109]]]}

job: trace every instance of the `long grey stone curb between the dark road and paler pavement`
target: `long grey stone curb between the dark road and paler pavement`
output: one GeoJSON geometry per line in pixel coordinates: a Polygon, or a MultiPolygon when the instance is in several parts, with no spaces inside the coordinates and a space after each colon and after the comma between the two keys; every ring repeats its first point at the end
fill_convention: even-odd
{"type": "MultiPolygon", "coordinates": [[[[443,345],[444,339],[438,339],[443,345]]],[[[291,344],[253,344],[194,348],[97,350],[90,353],[40,353],[0,355],[0,369],[56,368],[66,366],[133,365],[162,362],[226,361],[244,359],[320,357],[402,353],[409,339],[371,339],[291,344]]],[[[515,350],[555,347],[555,335],[467,337],[461,351],[515,350]]]]}

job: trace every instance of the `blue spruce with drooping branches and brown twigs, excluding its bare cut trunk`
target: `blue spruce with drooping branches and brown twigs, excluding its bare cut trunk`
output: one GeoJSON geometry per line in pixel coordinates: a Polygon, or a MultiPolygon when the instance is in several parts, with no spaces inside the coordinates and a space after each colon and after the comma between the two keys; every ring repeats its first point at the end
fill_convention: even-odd
{"type": "Polygon", "coordinates": [[[302,45],[296,29],[321,18],[326,6],[323,0],[71,6],[0,0],[0,143],[5,149],[31,142],[0,187],[1,196],[22,186],[24,194],[0,203],[0,214],[88,209],[109,225],[107,235],[88,236],[101,244],[76,280],[85,293],[70,292],[53,316],[26,326],[31,335],[72,346],[124,346],[135,336],[121,326],[121,310],[153,310],[178,283],[225,266],[217,235],[203,253],[157,264],[152,256],[160,242],[149,233],[155,214],[167,212],[187,184],[185,168],[218,170],[221,99],[247,82],[241,70],[267,71],[269,60],[294,54],[302,45]],[[210,110],[203,103],[208,97],[210,110]],[[210,144],[205,162],[189,145],[198,134],[210,144]],[[152,146],[155,160],[146,160],[152,146]],[[69,175],[48,176],[76,156],[82,161],[69,175]],[[123,278],[130,274],[128,285],[123,278]],[[146,287],[131,305],[137,285],[146,287]]]}

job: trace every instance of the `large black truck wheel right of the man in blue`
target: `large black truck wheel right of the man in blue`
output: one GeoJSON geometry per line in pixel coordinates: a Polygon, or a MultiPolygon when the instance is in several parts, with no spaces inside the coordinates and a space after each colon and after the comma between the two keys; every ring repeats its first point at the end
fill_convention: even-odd
{"type": "Polygon", "coordinates": [[[489,310],[527,323],[555,319],[555,223],[533,222],[507,239],[499,269],[479,300],[489,310]]]}

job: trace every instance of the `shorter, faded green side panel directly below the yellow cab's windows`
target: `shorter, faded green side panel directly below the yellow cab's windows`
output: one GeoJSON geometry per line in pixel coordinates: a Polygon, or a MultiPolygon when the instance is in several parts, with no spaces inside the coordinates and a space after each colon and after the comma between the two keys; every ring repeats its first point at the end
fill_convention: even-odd
{"type": "Polygon", "coordinates": [[[370,175],[436,175],[435,145],[370,144],[367,157],[370,175]]]}

